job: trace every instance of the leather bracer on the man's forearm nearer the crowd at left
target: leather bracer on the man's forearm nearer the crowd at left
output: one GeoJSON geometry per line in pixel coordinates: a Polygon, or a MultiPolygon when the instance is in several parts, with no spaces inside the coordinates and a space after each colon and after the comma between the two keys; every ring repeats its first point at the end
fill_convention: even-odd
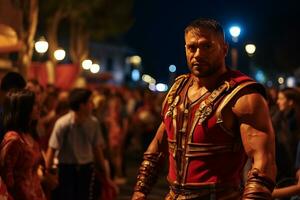
{"type": "Polygon", "coordinates": [[[144,153],[144,160],[140,165],[137,182],[134,187],[135,192],[149,194],[152,186],[157,180],[159,163],[162,153],[144,153]]]}

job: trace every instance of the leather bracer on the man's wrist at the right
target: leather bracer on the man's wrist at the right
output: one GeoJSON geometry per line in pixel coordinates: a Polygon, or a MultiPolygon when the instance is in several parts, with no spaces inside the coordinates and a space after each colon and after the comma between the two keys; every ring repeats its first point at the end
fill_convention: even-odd
{"type": "Polygon", "coordinates": [[[244,189],[242,199],[272,199],[272,192],[274,187],[274,181],[260,172],[259,169],[254,168],[248,173],[248,180],[244,189]]]}

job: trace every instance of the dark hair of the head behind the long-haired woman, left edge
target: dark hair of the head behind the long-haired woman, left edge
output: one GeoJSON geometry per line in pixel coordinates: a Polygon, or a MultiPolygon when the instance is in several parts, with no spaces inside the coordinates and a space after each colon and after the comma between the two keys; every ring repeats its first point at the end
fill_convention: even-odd
{"type": "Polygon", "coordinates": [[[1,90],[4,92],[8,92],[11,89],[24,89],[25,86],[25,79],[17,72],[8,72],[1,80],[1,90]]]}

